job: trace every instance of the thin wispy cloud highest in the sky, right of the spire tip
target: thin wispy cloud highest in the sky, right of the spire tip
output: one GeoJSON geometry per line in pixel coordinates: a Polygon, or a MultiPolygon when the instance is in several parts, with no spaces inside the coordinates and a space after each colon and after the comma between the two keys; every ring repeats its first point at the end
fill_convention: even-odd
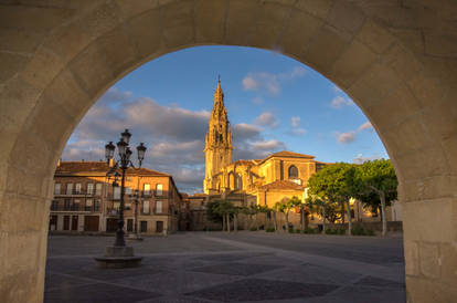
{"type": "Polygon", "coordinates": [[[268,73],[257,72],[247,73],[242,83],[245,91],[259,91],[266,92],[269,95],[278,95],[281,91],[281,82],[290,81],[296,77],[301,77],[306,73],[305,67],[295,66],[291,71],[285,73],[268,73]]]}

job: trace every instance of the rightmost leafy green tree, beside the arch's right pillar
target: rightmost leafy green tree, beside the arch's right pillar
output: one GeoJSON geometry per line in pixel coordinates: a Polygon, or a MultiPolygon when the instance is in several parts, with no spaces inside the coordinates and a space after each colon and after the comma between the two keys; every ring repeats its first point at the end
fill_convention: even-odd
{"type": "Polygon", "coordinates": [[[365,205],[374,205],[376,201],[381,206],[382,236],[385,237],[387,220],[385,218],[385,207],[397,198],[396,188],[398,180],[391,160],[380,159],[365,161],[357,167],[355,181],[358,188],[355,197],[365,205]],[[375,194],[379,200],[373,198],[375,194]]]}

